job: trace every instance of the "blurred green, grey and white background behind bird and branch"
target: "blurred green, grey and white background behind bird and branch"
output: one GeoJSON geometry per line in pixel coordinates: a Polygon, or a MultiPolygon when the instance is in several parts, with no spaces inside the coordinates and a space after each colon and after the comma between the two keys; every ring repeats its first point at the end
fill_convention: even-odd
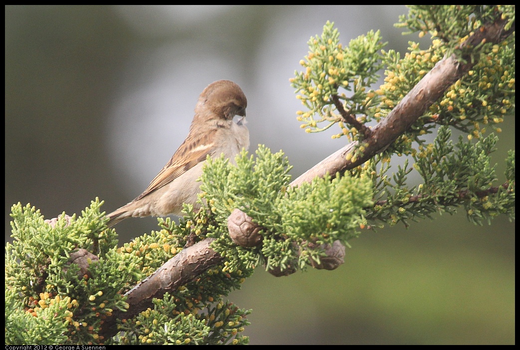
{"type": "MultiPolygon", "coordinates": [[[[404,6],[5,7],[5,225],[12,204],[46,218],[110,212],[131,201],[188,133],[205,86],[237,82],[248,97],[251,148],[282,149],[294,177],[344,146],[305,134],[289,79],[311,36],[335,22],[343,45],[373,29],[386,49],[404,6]]],[[[422,41],[426,43],[426,38],[422,41]]],[[[426,44],[423,45],[427,47],[426,44]]],[[[514,149],[514,116],[493,155],[514,149]]],[[[396,159],[402,163],[402,159],[396,159]]],[[[117,227],[120,243],[157,228],[117,227]]],[[[229,300],[252,308],[251,344],[514,344],[514,222],[474,226],[462,210],[366,231],[334,271],[275,278],[258,268],[229,300]]]]}

